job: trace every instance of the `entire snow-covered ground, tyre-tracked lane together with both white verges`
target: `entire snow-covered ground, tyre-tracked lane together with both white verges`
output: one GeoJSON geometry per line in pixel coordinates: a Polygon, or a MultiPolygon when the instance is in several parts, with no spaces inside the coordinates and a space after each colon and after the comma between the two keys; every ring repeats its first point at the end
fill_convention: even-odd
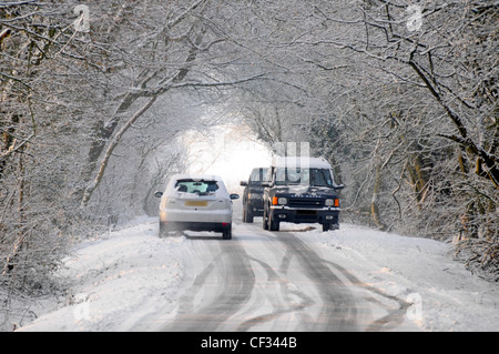
{"type": "Polygon", "coordinates": [[[230,241],[159,239],[149,219],[84,242],[61,272],[75,280],[70,299],[21,331],[499,330],[499,287],[450,245],[258,221],[235,222],[230,241]]]}

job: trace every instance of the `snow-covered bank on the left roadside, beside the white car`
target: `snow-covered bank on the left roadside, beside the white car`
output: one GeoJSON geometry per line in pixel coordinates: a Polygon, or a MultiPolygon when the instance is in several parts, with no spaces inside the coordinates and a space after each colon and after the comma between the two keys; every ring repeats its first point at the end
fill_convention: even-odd
{"type": "Polygon", "coordinates": [[[185,237],[157,237],[157,219],[78,245],[61,276],[74,285],[60,309],[21,331],[130,331],[176,304],[185,237]]]}

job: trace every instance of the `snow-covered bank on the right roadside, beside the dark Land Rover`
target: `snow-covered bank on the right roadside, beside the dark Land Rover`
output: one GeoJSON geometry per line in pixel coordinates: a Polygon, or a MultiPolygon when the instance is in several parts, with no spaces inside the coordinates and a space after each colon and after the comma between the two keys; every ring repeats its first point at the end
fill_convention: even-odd
{"type": "Polygon", "coordinates": [[[303,239],[333,247],[360,281],[417,303],[410,311],[424,331],[499,331],[499,284],[454,261],[450,244],[354,225],[303,239]]]}

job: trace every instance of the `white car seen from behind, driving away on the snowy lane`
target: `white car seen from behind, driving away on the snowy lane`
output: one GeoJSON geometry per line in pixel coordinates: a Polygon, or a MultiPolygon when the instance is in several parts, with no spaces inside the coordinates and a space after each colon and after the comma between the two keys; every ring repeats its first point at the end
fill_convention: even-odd
{"type": "Polygon", "coordinates": [[[217,175],[175,174],[166,190],[155,192],[160,203],[160,236],[170,231],[222,232],[224,240],[232,239],[232,200],[217,175]]]}

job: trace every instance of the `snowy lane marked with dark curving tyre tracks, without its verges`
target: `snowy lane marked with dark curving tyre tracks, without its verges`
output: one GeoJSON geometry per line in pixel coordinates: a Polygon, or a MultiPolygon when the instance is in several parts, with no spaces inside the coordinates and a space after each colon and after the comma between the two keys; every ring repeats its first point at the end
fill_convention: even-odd
{"type": "Polygon", "coordinates": [[[255,223],[236,225],[230,242],[186,239],[191,281],[175,317],[155,330],[418,330],[406,322],[409,303],[360,282],[335,263],[334,249],[320,254],[305,232],[268,232],[255,223]]]}

